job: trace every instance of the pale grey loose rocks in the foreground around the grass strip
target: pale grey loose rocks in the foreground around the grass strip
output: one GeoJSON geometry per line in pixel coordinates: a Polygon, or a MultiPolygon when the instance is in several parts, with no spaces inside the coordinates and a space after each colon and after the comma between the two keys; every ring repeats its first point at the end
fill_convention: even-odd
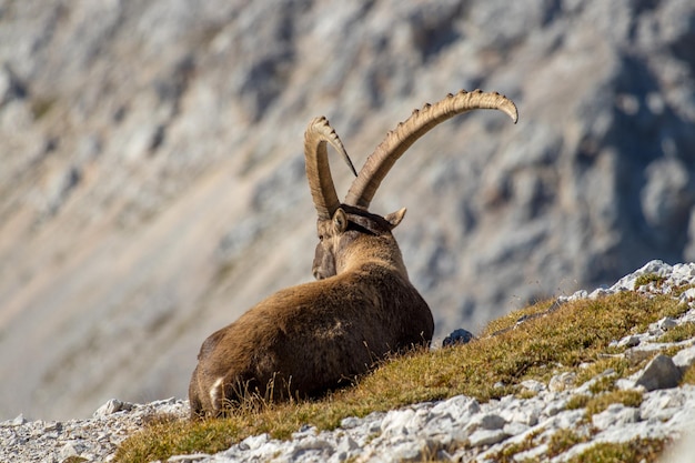
{"type": "MultiPolygon", "coordinates": [[[[693,332],[688,326],[695,323],[695,263],[671,266],[653,261],[610,289],[591,294],[578,291],[560,298],[557,303],[596,300],[632,289],[644,298],[672,294],[686,306],[677,318],[664,318],[652,323],[646,332],[633,330],[633,334],[612,343],[624,349],[615,355],[636,362],[652,358],[628,378],[608,369],[584,382],[577,381],[575,372],[565,371],[550,381],[525,380],[516,394],[485,403],[456,395],[373,412],[360,419],[344,417],[331,431],[303,425],[285,441],[271,439],[266,433],[251,435],[216,454],[177,455],[168,461],[319,463],[435,459],[560,463],[654,462],[661,456],[661,461],[668,463],[691,462],[693,442],[688,433],[695,425],[692,376],[695,339],[685,336],[674,341],[668,334],[678,330],[682,334],[693,332]],[[656,276],[658,283],[639,282],[647,276],[656,276]],[[674,445],[678,440],[683,444],[674,445]],[[625,447],[618,449],[620,445],[625,447]]],[[[89,420],[27,421],[19,415],[0,422],[0,461],[63,462],[70,457],[112,461],[118,445],[147,423],[155,422],[157,416],[188,420],[188,402],[172,397],[148,404],[112,399],[89,420]]]]}

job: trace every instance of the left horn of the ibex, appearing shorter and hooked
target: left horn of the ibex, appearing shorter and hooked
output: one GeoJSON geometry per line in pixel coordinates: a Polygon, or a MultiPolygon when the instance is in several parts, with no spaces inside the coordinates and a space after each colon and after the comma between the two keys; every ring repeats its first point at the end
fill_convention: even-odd
{"type": "Polygon", "coordinates": [[[338,133],[329,124],[329,121],[324,117],[314,118],[304,132],[304,159],[306,162],[306,180],[309,180],[309,188],[320,220],[331,219],[340,207],[333,178],[331,177],[326,143],[331,143],[350,167],[352,173],[357,177],[357,172],[354,165],[352,165],[343,142],[341,142],[338,133]]]}

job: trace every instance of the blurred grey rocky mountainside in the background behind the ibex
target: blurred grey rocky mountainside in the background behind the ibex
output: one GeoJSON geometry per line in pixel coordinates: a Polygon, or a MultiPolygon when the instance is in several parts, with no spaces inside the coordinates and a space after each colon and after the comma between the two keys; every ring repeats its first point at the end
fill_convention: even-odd
{"type": "Polygon", "coordinates": [[[314,115],[359,168],[426,101],[516,101],[372,202],[409,208],[435,339],[695,259],[694,40],[686,0],[1,1],[0,419],[184,396],[208,334],[309,281],[314,115]]]}

